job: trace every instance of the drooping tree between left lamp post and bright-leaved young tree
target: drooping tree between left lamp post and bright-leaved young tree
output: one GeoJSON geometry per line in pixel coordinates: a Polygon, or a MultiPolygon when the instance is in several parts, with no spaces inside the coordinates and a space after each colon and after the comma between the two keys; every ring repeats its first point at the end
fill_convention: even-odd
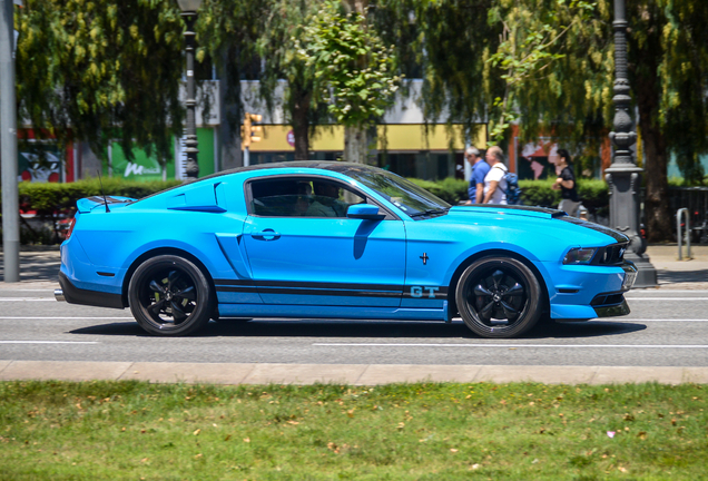
{"type": "Polygon", "coordinates": [[[317,0],[207,0],[199,19],[199,38],[220,70],[222,88],[236,115],[228,116],[232,131],[243,117],[242,79],[258,79],[258,95],[268,112],[283,108],[293,125],[295,158],[309,157],[309,134],[326,117],[314,95],[315,72],[297,55],[293,38],[302,35],[317,0]],[[263,60],[263,61],[260,61],[263,60]],[[286,88],[281,90],[279,82],[286,88]],[[282,92],[283,97],[277,95],[282,92]],[[278,104],[282,101],[282,104],[278,104]]]}

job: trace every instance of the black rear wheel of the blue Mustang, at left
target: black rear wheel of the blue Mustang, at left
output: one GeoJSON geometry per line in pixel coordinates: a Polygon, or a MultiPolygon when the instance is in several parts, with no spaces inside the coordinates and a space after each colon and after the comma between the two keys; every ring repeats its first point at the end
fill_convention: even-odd
{"type": "Polygon", "coordinates": [[[128,287],[130,311],[150,334],[176,336],[203,328],[214,312],[214,294],[190,261],[161,255],[140,264],[128,287]]]}

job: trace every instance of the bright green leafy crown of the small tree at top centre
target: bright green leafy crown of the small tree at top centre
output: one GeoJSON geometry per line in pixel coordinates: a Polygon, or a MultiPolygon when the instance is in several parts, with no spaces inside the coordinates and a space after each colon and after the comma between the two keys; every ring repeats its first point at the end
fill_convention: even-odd
{"type": "Polygon", "coordinates": [[[305,27],[295,48],[314,67],[318,89],[338,124],[367,126],[393,102],[401,80],[393,71],[394,50],[356,11],[344,13],[337,1],[327,1],[305,27]]]}

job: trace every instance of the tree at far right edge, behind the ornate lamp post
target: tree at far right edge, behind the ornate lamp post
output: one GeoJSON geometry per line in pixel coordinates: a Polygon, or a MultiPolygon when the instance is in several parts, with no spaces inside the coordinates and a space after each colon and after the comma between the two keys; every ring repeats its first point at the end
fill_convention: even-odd
{"type": "Polygon", "coordinates": [[[670,238],[667,164],[702,181],[698,155],[708,151],[708,4],[643,0],[628,11],[629,71],[646,155],[645,213],[649,240],[670,238]]]}

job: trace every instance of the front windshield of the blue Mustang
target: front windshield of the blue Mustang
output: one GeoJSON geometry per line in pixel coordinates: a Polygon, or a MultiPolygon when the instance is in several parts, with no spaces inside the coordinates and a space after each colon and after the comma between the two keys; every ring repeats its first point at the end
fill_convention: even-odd
{"type": "Polygon", "coordinates": [[[374,189],[414,219],[444,215],[450,204],[386,170],[347,169],[346,175],[374,189]]]}

